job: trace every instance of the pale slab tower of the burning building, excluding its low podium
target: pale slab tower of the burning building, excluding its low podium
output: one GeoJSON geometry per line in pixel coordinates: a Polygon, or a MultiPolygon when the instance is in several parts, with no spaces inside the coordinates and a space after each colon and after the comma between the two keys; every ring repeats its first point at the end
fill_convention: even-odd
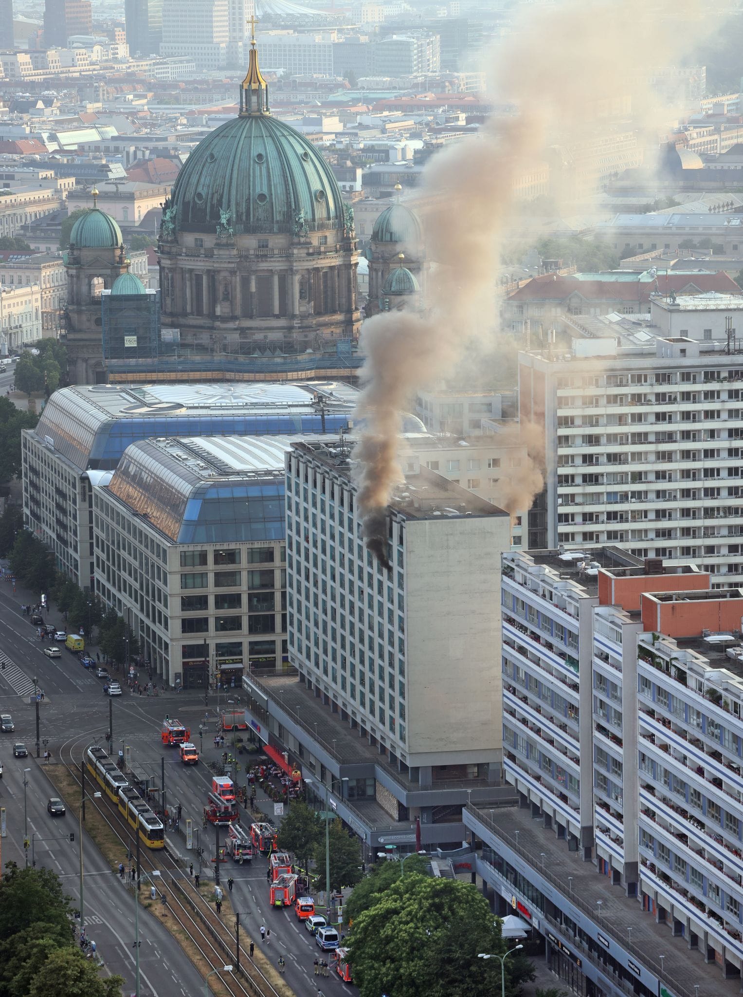
{"type": "Polygon", "coordinates": [[[422,508],[418,498],[389,506],[387,572],[362,539],[346,452],[305,445],[289,456],[289,660],[407,769],[430,781],[437,767],[463,766],[477,778],[500,763],[498,564],[509,519],[425,470],[405,487],[427,497],[422,508]]]}

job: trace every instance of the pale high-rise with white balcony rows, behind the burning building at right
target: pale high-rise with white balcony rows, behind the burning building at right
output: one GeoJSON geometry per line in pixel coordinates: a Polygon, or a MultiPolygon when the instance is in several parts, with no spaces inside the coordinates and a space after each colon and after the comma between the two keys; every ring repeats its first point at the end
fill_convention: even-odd
{"type": "Polygon", "coordinates": [[[715,586],[743,580],[743,357],[719,340],[640,333],[519,355],[521,418],[546,442],[528,546],[617,543],[693,559],[715,586]]]}

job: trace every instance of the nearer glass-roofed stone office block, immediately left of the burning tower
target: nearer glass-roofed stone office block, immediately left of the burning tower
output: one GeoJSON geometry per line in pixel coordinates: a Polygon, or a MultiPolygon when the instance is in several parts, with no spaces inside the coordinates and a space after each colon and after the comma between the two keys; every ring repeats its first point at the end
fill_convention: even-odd
{"type": "Polygon", "coordinates": [[[95,589],[168,685],[239,688],[287,660],[284,459],[298,439],[146,440],[89,473],[95,589]]]}

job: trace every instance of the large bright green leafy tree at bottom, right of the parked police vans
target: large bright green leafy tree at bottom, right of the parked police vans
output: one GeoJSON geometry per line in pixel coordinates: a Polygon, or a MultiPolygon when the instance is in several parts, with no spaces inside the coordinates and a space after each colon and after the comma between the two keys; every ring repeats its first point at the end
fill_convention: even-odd
{"type": "MultiPolygon", "coordinates": [[[[500,921],[476,886],[408,874],[354,921],[349,938],[361,997],[481,997],[500,990],[500,963],[479,952],[506,951],[500,921]]],[[[531,963],[506,961],[506,993],[534,978],[531,963]]]]}

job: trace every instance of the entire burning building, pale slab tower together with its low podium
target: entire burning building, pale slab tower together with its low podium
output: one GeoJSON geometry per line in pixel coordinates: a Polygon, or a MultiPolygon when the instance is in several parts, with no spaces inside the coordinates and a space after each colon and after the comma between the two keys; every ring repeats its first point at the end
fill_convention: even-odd
{"type": "Polygon", "coordinates": [[[261,740],[315,781],[373,849],[461,840],[461,807],[498,799],[502,509],[418,467],[387,510],[385,570],[362,538],[346,445],[287,458],[294,677],[245,676],[261,740]],[[391,835],[391,836],[388,836],[391,835]]]}

